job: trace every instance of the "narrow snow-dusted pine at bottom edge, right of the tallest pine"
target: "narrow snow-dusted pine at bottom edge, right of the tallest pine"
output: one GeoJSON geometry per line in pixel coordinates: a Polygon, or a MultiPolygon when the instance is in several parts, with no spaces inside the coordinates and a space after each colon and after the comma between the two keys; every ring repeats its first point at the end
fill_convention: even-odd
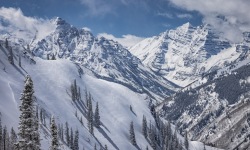
{"type": "Polygon", "coordinates": [[[51,126],[50,126],[50,132],[51,132],[51,145],[50,149],[51,150],[59,150],[59,141],[58,141],[58,136],[57,136],[57,126],[55,122],[54,116],[52,116],[51,119],[51,126]]]}

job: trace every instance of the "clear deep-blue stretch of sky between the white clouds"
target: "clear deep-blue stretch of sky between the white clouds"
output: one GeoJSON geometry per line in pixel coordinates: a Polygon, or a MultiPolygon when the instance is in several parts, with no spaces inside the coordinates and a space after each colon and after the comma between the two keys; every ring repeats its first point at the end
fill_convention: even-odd
{"type": "Polygon", "coordinates": [[[79,28],[90,28],[95,35],[116,37],[149,37],[186,22],[199,25],[202,18],[168,0],[1,0],[1,6],[20,8],[25,16],[59,16],[79,28]]]}

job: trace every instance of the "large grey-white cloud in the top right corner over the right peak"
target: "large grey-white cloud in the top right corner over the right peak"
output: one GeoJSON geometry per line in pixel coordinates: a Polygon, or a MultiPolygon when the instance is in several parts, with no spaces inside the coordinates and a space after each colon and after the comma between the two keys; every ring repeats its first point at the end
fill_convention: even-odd
{"type": "Polygon", "coordinates": [[[189,11],[198,11],[203,22],[211,24],[229,40],[240,42],[242,32],[250,31],[249,0],[170,0],[189,11]]]}

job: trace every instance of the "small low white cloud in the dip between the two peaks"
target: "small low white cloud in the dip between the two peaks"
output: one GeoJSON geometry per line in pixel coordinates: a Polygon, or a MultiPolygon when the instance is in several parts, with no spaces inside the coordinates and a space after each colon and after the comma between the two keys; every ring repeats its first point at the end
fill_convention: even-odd
{"type": "Polygon", "coordinates": [[[130,34],[123,35],[121,38],[117,38],[113,36],[112,34],[107,34],[107,33],[100,33],[97,35],[97,37],[98,38],[105,37],[106,39],[117,41],[127,48],[134,46],[135,44],[145,39],[143,37],[137,37],[135,35],[130,35],[130,34]]]}

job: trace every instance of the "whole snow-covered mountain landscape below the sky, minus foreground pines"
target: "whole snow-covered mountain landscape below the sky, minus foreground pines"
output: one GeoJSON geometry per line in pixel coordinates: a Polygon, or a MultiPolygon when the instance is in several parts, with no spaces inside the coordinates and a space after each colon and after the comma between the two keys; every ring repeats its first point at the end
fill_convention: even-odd
{"type": "MultiPolygon", "coordinates": [[[[45,120],[49,122],[54,115],[58,124],[69,122],[80,132],[81,148],[107,144],[109,149],[151,149],[152,141],[141,133],[141,122],[146,116],[150,127],[157,126],[152,108],[162,122],[172,123],[182,142],[188,132],[192,150],[203,149],[202,143],[207,149],[250,148],[249,33],[242,35],[241,43],[232,43],[210,25],[186,23],[127,49],[62,18],[51,23],[54,31],[44,33],[43,38],[25,30],[18,32],[29,35],[29,41],[18,34],[0,34],[3,124],[17,130],[22,82],[30,74],[37,107],[45,110],[45,120]],[[9,64],[6,38],[13,49],[14,65],[9,64]],[[20,58],[22,65],[18,66],[20,58]],[[87,91],[94,104],[100,105],[102,126],[95,129],[95,136],[87,130],[87,104],[71,100],[74,80],[82,97],[87,91]],[[128,140],[130,121],[135,125],[137,147],[128,140]]],[[[42,148],[48,149],[46,124],[41,123],[40,132],[42,148]]],[[[61,145],[68,149],[63,141],[61,145]]]]}

